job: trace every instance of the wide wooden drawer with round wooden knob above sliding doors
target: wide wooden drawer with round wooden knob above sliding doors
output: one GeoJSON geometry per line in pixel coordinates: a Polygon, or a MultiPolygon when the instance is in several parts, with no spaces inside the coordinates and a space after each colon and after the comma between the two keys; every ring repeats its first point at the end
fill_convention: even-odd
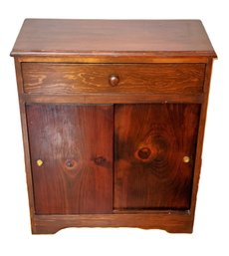
{"type": "Polygon", "coordinates": [[[200,94],[205,64],[22,63],[26,94],[200,94]]]}

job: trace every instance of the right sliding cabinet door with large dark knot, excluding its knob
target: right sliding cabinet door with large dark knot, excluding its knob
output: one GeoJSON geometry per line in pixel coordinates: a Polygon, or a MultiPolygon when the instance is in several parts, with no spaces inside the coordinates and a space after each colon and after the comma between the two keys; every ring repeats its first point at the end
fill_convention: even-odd
{"type": "Polygon", "coordinates": [[[190,208],[199,111],[191,104],[115,107],[115,209],[190,208]]]}

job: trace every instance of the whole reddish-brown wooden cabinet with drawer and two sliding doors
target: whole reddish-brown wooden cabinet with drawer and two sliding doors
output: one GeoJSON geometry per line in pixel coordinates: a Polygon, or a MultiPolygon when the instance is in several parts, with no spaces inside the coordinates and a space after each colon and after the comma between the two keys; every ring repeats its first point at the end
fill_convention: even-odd
{"type": "Polygon", "coordinates": [[[200,21],[25,21],[15,59],[33,233],[192,232],[212,60],[200,21]]]}

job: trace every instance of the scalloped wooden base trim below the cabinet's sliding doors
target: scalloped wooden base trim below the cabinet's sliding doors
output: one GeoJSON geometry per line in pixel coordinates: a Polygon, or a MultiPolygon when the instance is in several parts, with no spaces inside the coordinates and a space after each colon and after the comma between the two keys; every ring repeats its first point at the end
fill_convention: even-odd
{"type": "Polygon", "coordinates": [[[180,213],[35,215],[33,234],[54,234],[68,227],[136,227],[192,233],[193,215],[180,213]]]}

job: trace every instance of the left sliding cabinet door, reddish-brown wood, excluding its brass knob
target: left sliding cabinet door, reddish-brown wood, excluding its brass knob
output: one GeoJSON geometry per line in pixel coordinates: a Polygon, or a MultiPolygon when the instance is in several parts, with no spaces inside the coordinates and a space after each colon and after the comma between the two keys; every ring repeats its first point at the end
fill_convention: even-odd
{"type": "Polygon", "coordinates": [[[36,214],[111,213],[113,108],[28,105],[26,111],[36,214]]]}

